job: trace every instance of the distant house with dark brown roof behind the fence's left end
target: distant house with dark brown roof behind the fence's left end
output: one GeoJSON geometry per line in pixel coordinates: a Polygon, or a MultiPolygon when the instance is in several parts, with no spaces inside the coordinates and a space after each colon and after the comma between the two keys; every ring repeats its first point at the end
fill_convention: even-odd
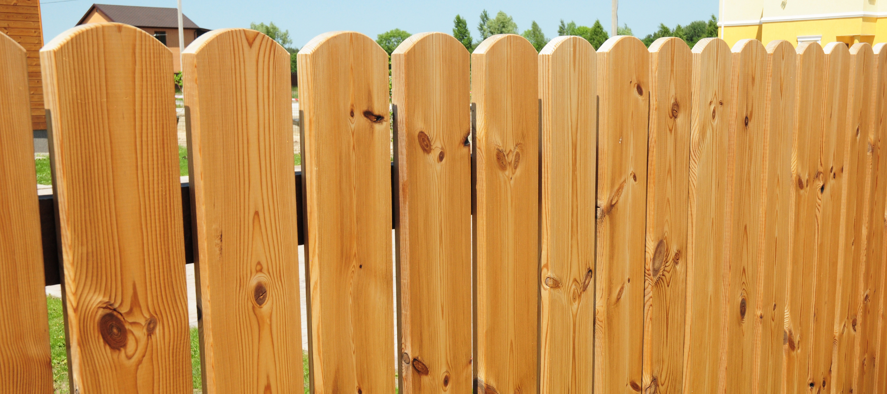
{"type": "MultiPolygon", "coordinates": [[[[206,28],[200,28],[196,23],[182,16],[184,25],[184,45],[194,41],[195,38],[208,32],[206,28]]],[[[182,49],[178,47],[178,10],[175,8],[161,7],[136,7],[130,5],[92,4],[90,10],[77,22],[77,26],[87,23],[119,22],[141,28],[153,35],[161,43],[164,43],[172,51],[173,69],[181,71],[179,54],[182,49]]]]}

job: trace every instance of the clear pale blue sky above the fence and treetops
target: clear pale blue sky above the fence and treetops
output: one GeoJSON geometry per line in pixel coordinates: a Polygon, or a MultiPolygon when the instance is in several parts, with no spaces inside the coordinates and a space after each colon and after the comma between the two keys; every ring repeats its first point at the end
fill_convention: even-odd
{"type": "MultiPolygon", "coordinates": [[[[74,27],[95,0],[43,0],[43,39],[49,41],[74,27]]],[[[103,4],[176,7],[176,0],[99,0],[103,4]]],[[[248,28],[250,22],[273,21],[289,30],[293,44],[302,47],[315,35],[334,30],[356,30],[373,38],[392,28],[410,33],[441,31],[452,33],[452,20],[461,14],[468,21],[472,36],[478,38],[478,16],[486,9],[491,16],[504,11],[523,31],[536,20],[546,36],[557,35],[560,20],[575,20],[591,26],[594,20],[609,31],[610,0],[525,1],[525,0],[451,0],[451,1],[255,1],[255,0],[183,0],[184,14],[201,28],[248,28]]],[[[693,20],[708,20],[718,14],[718,0],[621,0],[619,24],[628,23],[634,35],[655,31],[659,23],[686,25],[693,20]]]]}

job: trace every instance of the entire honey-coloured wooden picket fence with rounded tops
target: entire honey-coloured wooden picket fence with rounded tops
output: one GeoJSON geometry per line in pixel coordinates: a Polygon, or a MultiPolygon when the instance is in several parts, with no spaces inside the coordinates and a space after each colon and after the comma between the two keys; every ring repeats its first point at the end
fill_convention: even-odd
{"type": "MultiPolygon", "coordinates": [[[[48,393],[27,64],[0,51],[0,392],[48,393]]],[[[191,390],[171,56],[113,23],[41,51],[72,392],[191,390]]],[[[426,33],[390,95],[365,35],[298,61],[302,185],[287,51],[183,54],[205,392],[301,392],[302,324],[314,393],[887,392],[884,44],[426,33]]]]}

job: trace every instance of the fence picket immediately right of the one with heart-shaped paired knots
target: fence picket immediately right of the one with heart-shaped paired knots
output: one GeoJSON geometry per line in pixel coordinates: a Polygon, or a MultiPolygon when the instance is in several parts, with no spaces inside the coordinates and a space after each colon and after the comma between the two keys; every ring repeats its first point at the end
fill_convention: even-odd
{"type": "Polygon", "coordinates": [[[560,36],[538,55],[541,108],[539,391],[591,392],[597,57],[560,36]]]}

